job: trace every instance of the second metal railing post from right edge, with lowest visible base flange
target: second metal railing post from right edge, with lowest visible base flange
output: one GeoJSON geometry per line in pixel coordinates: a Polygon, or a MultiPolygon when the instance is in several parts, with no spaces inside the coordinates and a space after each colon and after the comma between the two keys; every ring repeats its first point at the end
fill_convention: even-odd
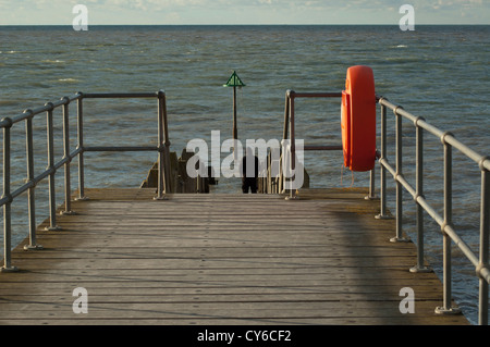
{"type": "Polygon", "coordinates": [[[441,226],[443,235],[442,250],[443,250],[443,269],[442,269],[442,285],[443,285],[443,306],[436,308],[436,313],[439,314],[458,314],[458,308],[451,307],[452,300],[452,264],[451,264],[451,236],[445,232],[445,227],[453,223],[453,154],[452,146],[445,141],[445,136],[452,135],[446,132],[441,136],[441,142],[444,146],[444,222],[441,226]]]}

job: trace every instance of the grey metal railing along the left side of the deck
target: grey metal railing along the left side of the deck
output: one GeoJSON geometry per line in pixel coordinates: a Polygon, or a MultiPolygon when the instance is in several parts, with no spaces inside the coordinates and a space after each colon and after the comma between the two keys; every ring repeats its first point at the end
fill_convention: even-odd
{"type": "Polygon", "coordinates": [[[27,109],[13,117],[4,117],[0,121],[0,128],[3,128],[3,195],[0,199],[0,206],[3,207],[3,237],[4,255],[1,272],[19,271],[12,265],[12,210],[11,205],[16,197],[27,191],[28,198],[28,220],[29,220],[29,244],[25,249],[41,249],[42,246],[36,241],[36,214],[35,214],[35,190],[39,182],[49,179],[49,226],[47,230],[58,231],[57,225],[57,206],[54,175],[59,169],[64,166],[64,211],[63,214],[73,214],[71,210],[71,173],[70,163],[74,158],[78,159],[78,197],[77,200],[87,199],[85,197],[84,179],[84,152],[87,151],[158,151],[158,189],[155,199],[166,199],[164,194],[170,191],[170,141],[167,120],[167,101],[163,90],[157,92],[115,92],[115,94],[83,94],[77,92],[71,97],[63,97],[56,102],[47,102],[44,107],[30,110],[27,109]],[[157,98],[158,99],[158,145],[157,146],[84,146],[83,133],[83,100],[100,98],[157,98]],[[70,124],[69,106],[72,101],[77,101],[77,147],[70,151],[70,124]],[[54,141],[53,141],[53,111],[62,108],[63,112],[63,158],[54,162],[54,141]],[[34,174],[34,132],[33,119],[41,113],[47,114],[47,135],[48,135],[48,168],[35,176],[34,174]],[[26,162],[27,179],[21,187],[11,191],[11,128],[25,122],[26,129],[26,162]]]}

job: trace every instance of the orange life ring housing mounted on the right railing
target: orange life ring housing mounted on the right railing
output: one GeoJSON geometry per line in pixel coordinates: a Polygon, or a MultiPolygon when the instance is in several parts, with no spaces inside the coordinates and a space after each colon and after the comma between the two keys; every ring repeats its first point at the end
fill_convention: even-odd
{"type": "Polygon", "coordinates": [[[344,165],[352,171],[372,170],[376,161],[376,92],[371,67],[347,69],[341,124],[344,165]]]}

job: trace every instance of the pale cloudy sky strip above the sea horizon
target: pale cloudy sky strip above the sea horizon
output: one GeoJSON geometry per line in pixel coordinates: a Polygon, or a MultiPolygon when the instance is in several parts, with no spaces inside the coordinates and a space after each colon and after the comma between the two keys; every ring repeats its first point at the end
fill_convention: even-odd
{"type": "Polygon", "coordinates": [[[417,24],[490,24],[490,0],[0,0],[0,25],[393,24],[414,8],[417,24]]]}

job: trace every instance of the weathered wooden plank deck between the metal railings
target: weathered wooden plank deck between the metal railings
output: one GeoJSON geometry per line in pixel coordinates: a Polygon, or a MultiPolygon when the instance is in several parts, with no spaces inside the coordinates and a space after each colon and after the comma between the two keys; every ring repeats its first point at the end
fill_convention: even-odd
{"type": "Polygon", "coordinates": [[[364,191],[172,195],[87,189],[0,274],[0,324],[468,324],[437,315],[442,286],[414,274],[415,246],[393,244],[364,191]],[[73,290],[86,288],[88,313],[73,290]],[[402,314],[400,290],[415,290],[402,314]]]}

